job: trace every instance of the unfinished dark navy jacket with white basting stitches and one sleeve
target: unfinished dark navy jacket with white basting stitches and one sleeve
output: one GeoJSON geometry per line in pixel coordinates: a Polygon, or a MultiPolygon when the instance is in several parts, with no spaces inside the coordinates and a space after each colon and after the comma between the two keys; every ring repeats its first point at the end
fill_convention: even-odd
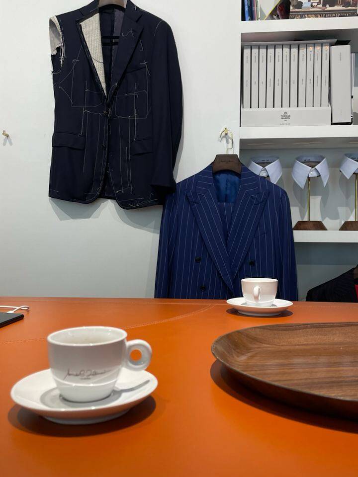
{"type": "Polygon", "coordinates": [[[103,63],[97,0],[50,19],[55,128],[50,197],[125,209],[163,203],[175,190],[182,95],[170,26],[130,0],[113,11],[103,63]],[[107,74],[105,74],[107,72],[107,74]],[[108,73],[109,72],[109,73],[108,73]]]}

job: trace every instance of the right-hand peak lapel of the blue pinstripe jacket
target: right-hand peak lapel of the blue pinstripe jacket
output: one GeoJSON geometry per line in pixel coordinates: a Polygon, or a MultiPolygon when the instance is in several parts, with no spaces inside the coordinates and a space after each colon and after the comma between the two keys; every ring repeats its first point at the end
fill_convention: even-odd
{"type": "Polygon", "coordinates": [[[254,239],[268,191],[261,191],[260,179],[244,165],[227,241],[233,278],[236,277],[254,239]]]}

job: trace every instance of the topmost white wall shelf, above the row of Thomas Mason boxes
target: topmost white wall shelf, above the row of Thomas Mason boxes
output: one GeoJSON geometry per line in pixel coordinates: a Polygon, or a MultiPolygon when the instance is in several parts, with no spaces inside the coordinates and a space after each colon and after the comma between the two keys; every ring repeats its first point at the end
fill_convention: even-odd
{"type": "Polygon", "coordinates": [[[350,40],[358,51],[358,17],[241,21],[241,41],[350,40]]]}

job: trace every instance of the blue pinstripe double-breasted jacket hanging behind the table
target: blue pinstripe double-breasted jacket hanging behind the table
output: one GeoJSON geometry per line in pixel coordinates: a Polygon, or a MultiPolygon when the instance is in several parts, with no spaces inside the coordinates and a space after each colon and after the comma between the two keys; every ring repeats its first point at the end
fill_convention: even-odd
{"type": "Polygon", "coordinates": [[[277,298],[297,300],[286,192],[243,166],[232,206],[226,239],[211,165],[179,182],[163,211],[156,298],[239,297],[242,278],[268,277],[277,298]]]}

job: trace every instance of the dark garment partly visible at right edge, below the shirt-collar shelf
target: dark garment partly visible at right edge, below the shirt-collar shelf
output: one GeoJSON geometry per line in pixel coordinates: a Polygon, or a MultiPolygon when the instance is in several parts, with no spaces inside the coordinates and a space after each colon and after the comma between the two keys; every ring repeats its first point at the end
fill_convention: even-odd
{"type": "Polygon", "coordinates": [[[308,291],[306,302],[358,303],[358,266],[308,291]]]}

